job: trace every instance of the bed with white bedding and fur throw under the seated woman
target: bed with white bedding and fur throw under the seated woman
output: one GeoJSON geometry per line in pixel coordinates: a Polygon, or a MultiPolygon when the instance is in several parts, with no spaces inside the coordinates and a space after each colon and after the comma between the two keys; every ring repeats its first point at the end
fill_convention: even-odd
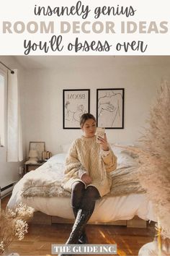
{"type": "MultiPolygon", "coordinates": [[[[113,180],[115,188],[113,188],[111,194],[97,201],[89,222],[106,223],[130,220],[134,216],[138,216],[143,220],[156,221],[152,203],[147,199],[146,193],[140,192],[140,187],[138,186],[136,189],[134,158],[121,150],[117,150],[115,154],[118,158],[117,171],[113,172],[114,175],[116,174],[113,180]],[[127,170],[128,174],[126,174],[123,184],[121,177],[127,170]],[[122,185],[119,184],[119,175],[117,176],[119,171],[122,185]],[[133,179],[134,182],[132,182],[133,179]],[[130,184],[131,192],[129,190],[128,193],[126,192],[126,186],[128,186],[126,182],[127,184],[128,182],[132,183],[130,184]],[[123,195],[123,189],[119,189],[119,186],[120,188],[125,187],[125,195],[123,195]],[[115,196],[115,192],[121,195],[115,196]]],[[[60,186],[63,178],[65,157],[65,153],[55,155],[37,170],[25,174],[15,185],[7,206],[14,208],[19,202],[24,202],[35,208],[35,211],[40,211],[49,216],[73,219],[69,193],[63,192],[60,186]]]]}

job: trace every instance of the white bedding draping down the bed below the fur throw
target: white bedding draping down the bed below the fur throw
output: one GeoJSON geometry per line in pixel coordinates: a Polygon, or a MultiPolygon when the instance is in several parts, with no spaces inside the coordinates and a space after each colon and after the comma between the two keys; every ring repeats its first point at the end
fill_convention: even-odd
{"type": "MultiPolygon", "coordinates": [[[[62,163],[65,155],[52,158],[51,161],[62,163]]],[[[69,197],[22,197],[23,181],[21,179],[14,187],[12,197],[7,207],[14,208],[19,202],[35,208],[50,216],[73,219],[71,200],[69,197]]],[[[97,200],[94,213],[90,222],[109,222],[117,220],[130,220],[138,216],[143,220],[156,221],[152,203],[148,201],[146,194],[130,194],[117,197],[102,197],[97,200]]]]}

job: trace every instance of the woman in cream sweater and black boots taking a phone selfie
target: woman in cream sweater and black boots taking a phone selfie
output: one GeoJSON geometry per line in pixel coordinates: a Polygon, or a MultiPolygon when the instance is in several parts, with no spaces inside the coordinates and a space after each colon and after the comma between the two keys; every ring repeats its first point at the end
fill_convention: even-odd
{"type": "Polygon", "coordinates": [[[106,135],[104,138],[95,135],[97,122],[94,116],[83,114],[80,126],[84,135],[71,145],[63,179],[63,188],[71,192],[76,218],[66,244],[87,242],[84,227],[94,211],[96,200],[109,193],[112,184],[109,172],[117,166],[117,158],[109,148],[106,135]]]}

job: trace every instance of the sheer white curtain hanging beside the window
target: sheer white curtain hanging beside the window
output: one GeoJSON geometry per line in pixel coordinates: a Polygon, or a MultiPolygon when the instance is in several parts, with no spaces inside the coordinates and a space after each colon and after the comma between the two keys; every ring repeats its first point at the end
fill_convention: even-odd
{"type": "Polygon", "coordinates": [[[7,109],[7,161],[18,162],[23,160],[23,155],[17,69],[14,74],[8,72],[7,109]]]}

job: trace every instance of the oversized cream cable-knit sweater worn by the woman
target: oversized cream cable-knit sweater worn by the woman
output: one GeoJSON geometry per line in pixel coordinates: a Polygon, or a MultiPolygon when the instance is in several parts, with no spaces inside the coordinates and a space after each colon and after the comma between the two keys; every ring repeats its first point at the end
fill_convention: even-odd
{"type": "MultiPolygon", "coordinates": [[[[73,182],[80,181],[86,173],[91,176],[90,185],[97,187],[100,196],[106,195],[112,185],[110,171],[117,167],[117,157],[110,149],[108,153],[101,150],[96,136],[81,136],[75,140],[66,157],[66,169],[63,188],[71,192],[73,182]]],[[[82,182],[82,181],[81,181],[82,182]]]]}

